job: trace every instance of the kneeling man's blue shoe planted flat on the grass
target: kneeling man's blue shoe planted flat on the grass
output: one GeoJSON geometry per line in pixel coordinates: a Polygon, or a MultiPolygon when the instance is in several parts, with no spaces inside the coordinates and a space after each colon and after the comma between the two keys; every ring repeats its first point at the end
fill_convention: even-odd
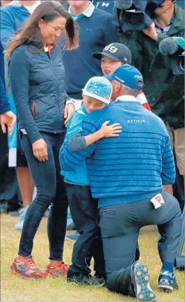
{"type": "Polygon", "coordinates": [[[175,273],[169,273],[168,271],[161,271],[159,275],[158,288],[164,292],[173,292],[178,289],[177,279],[175,273]]]}

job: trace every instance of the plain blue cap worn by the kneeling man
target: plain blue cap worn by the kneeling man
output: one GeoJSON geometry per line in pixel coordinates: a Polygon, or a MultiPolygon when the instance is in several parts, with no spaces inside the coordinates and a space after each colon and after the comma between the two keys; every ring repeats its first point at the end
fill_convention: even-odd
{"type": "Polygon", "coordinates": [[[132,89],[143,89],[143,76],[134,66],[122,65],[112,75],[106,75],[106,79],[115,80],[132,89]]]}

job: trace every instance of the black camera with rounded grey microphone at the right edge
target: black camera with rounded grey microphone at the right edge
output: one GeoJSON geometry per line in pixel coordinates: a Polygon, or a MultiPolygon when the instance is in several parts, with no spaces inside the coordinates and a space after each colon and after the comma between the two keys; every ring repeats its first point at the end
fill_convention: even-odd
{"type": "Polygon", "coordinates": [[[161,54],[169,56],[174,75],[184,75],[184,38],[168,37],[163,39],[159,44],[159,51],[161,54]]]}

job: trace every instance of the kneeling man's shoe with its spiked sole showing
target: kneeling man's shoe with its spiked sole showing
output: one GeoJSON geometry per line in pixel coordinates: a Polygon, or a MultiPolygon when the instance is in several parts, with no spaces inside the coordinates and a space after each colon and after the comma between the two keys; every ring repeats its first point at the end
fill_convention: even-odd
{"type": "Polygon", "coordinates": [[[132,266],[132,283],[137,301],[156,301],[156,294],[150,287],[149,269],[145,264],[136,263],[132,266]]]}

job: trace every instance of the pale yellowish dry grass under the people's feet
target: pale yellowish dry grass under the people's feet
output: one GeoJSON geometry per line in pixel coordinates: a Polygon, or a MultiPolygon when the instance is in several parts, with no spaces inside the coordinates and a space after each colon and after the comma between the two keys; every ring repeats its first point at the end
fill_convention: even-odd
{"type": "MultiPolygon", "coordinates": [[[[133,298],[114,294],[106,288],[78,287],[67,285],[63,278],[46,280],[24,280],[10,273],[10,264],[15,257],[20,232],[13,229],[17,218],[1,215],[1,302],[3,301],[136,301],[133,298]]],[[[47,219],[43,218],[35,236],[33,256],[37,265],[44,269],[47,265],[48,240],[47,219]]],[[[184,273],[177,272],[179,290],[171,294],[159,292],[156,288],[161,262],[156,249],[156,231],[141,232],[139,238],[140,262],[150,267],[151,286],[156,292],[157,301],[184,301],[184,273]]],[[[65,241],[64,259],[71,262],[73,243],[65,241]]]]}

